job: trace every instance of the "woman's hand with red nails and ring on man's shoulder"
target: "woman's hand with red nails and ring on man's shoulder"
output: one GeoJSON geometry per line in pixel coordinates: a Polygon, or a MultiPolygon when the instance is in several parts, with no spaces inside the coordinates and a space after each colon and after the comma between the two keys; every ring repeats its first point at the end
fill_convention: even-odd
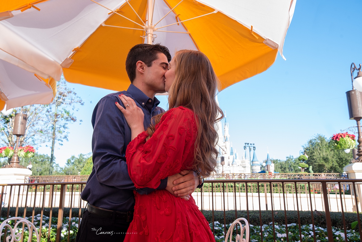
{"type": "Polygon", "coordinates": [[[144,120],[144,113],[142,109],[137,107],[135,101],[130,97],[127,97],[123,94],[118,95],[119,99],[122,101],[125,108],[123,108],[119,103],[115,102],[115,105],[126,118],[127,124],[131,129],[132,137],[134,139],[137,137],[138,134],[144,131],[143,120],[144,120]]]}

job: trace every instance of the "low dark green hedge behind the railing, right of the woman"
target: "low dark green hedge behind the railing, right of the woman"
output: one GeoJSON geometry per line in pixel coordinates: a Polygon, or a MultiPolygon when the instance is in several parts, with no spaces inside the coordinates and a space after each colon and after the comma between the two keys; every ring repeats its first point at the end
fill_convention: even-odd
{"type": "MultiPolygon", "coordinates": [[[[323,228],[327,228],[325,223],[325,214],[324,212],[320,212],[323,215],[317,216],[315,213],[313,214],[314,224],[323,228]]],[[[331,221],[332,226],[335,228],[343,229],[343,220],[342,220],[342,212],[330,212],[331,213],[331,221]]],[[[206,217],[208,222],[212,222],[212,211],[204,210],[203,214],[206,217]]],[[[275,210],[274,211],[274,222],[280,224],[285,224],[285,216],[284,210],[275,210]]],[[[299,211],[300,216],[300,224],[301,225],[309,225],[312,224],[312,216],[310,211],[299,211]]],[[[237,217],[248,218],[248,214],[246,210],[238,210],[237,217]]],[[[351,229],[351,223],[357,221],[357,213],[344,213],[346,228],[351,229]]],[[[362,217],[362,213],[360,213],[359,217],[362,217]]],[[[225,211],[225,220],[226,224],[231,224],[235,220],[235,210],[225,211]]],[[[224,211],[214,211],[214,221],[219,221],[221,224],[224,224],[224,211]]],[[[261,221],[262,224],[269,224],[272,222],[271,210],[262,210],[261,211],[261,221]]],[[[252,225],[260,226],[260,216],[259,210],[249,210],[249,222],[252,225]]],[[[287,211],[287,224],[298,224],[298,212],[294,210],[287,211]]]]}

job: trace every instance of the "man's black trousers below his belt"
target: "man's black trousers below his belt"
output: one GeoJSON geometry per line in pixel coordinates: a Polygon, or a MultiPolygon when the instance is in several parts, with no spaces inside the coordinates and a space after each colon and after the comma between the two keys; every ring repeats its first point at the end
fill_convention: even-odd
{"type": "Polygon", "coordinates": [[[119,241],[123,242],[130,222],[115,216],[106,218],[84,210],[76,242],[119,241]]]}

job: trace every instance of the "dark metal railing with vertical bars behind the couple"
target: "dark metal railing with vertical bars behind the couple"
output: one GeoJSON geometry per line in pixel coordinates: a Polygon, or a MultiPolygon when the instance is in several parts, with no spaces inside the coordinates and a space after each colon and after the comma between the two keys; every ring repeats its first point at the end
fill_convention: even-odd
{"type": "MultiPolygon", "coordinates": [[[[261,240],[263,238],[262,226],[266,222],[274,226],[276,217],[275,211],[282,214],[283,222],[288,224],[290,218],[287,213],[290,210],[296,211],[296,220],[298,220],[299,228],[302,221],[300,213],[310,212],[310,223],[315,228],[316,216],[325,218],[325,225],[328,231],[328,241],[333,241],[331,212],[340,214],[341,224],[348,241],[347,229],[350,225],[346,224],[346,212],[356,212],[358,221],[358,231],[361,235],[361,221],[359,211],[361,211],[361,184],[359,179],[257,179],[257,180],[205,180],[202,189],[197,189],[193,193],[193,197],[199,209],[202,212],[211,213],[209,222],[212,222],[212,231],[215,233],[214,221],[215,214],[222,213],[223,220],[226,224],[226,214],[232,215],[232,219],[238,217],[240,210],[246,211],[248,221],[250,214],[256,211],[259,213],[261,240]],[[266,221],[262,213],[270,211],[271,221],[266,221]],[[316,213],[320,213],[316,215],[316,213]]],[[[77,225],[80,224],[82,209],[86,202],[80,199],[80,193],[85,186],[85,182],[72,183],[27,183],[27,184],[3,184],[0,185],[0,214],[6,214],[8,217],[18,216],[26,217],[26,213],[31,211],[31,222],[34,222],[36,211],[39,211],[39,234],[45,229],[43,225],[43,214],[49,217],[48,230],[46,235],[47,241],[50,240],[51,223],[54,208],[58,209],[56,214],[56,241],[61,241],[61,237],[66,236],[67,241],[71,240],[71,223],[74,223],[72,217],[77,217],[77,225]],[[66,212],[64,212],[66,208],[66,212]],[[6,211],[6,212],[5,212],[6,211]],[[67,233],[62,233],[64,218],[67,217],[69,223],[67,233]]],[[[204,214],[205,214],[204,213],[204,214]]],[[[280,216],[278,219],[280,220],[280,216]]],[[[30,217],[30,216],[28,216],[30,217]]],[[[357,227],[356,227],[357,228],[357,227]]],[[[286,227],[286,229],[288,229],[286,227]]],[[[226,226],[224,233],[226,234],[226,226]]],[[[302,233],[299,231],[300,241],[303,241],[302,233]]],[[[44,238],[44,233],[43,233],[44,238]]],[[[274,231],[275,238],[275,231],[274,231]]],[[[275,239],[274,239],[275,241],[275,239]]],[[[290,241],[288,232],[286,233],[286,241],[290,241]]],[[[317,238],[314,233],[314,240],[317,238]]],[[[362,242],[362,239],[360,239],[362,242]]]]}

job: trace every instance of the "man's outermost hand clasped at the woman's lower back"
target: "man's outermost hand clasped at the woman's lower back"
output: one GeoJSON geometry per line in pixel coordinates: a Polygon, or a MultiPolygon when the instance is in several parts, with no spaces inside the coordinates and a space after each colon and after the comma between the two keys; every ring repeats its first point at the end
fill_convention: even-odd
{"type": "Polygon", "coordinates": [[[175,185],[172,190],[174,195],[178,197],[186,196],[195,191],[199,185],[199,176],[194,171],[183,170],[180,172],[180,178],[177,178],[173,181],[175,185]]]}

